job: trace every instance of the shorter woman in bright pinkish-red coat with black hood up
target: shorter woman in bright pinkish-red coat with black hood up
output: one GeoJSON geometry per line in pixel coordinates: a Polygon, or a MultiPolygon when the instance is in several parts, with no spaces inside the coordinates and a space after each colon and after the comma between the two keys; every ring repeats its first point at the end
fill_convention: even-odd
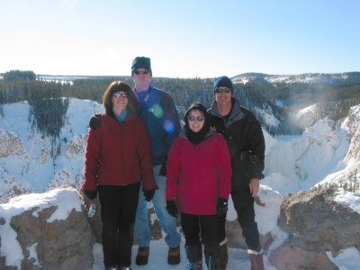
{"type": "Polygon", "coordinates": [[[202,269],[203,243],[206,265],[219,269],[218,215],[228,211],[229,148],[211,130],[202,103],[193,103],[184,121],[167,159],[166,209],[176,216],[178,207],[181,213],[189,268],[202,269]]]}

